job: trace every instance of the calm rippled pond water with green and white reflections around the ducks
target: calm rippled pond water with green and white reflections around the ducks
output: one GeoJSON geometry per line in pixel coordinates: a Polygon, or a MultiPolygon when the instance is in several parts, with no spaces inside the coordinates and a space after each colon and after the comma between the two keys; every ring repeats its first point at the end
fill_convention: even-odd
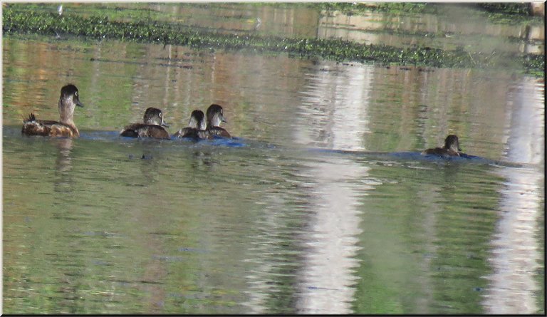
{"type": "Polygon", "coordinates": [[[4,313],[544,313],[543,78],[2,44],[4,313]],[[58,118],[68,82],[81,137],[21,136],[28,113],[58,118]],[[149,106],[173,133],[211,103],[236,139],[118,137],[149,106]],[[479,158],[419,155],[449,133],[479,158]]]}

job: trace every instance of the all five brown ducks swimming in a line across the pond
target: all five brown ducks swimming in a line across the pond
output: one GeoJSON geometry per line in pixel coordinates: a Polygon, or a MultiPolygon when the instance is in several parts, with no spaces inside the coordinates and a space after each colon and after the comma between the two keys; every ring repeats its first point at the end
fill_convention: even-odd
{"type": "MultiPolygon", "coordinates": [[[[73,116],[75,106],[83,107],[78,96],[78,88],[75,85],[68,84],[61,88],[61,97],[59,98],[59,121],[37,120],[33,113],[28,119],[23,121],[21,132],[24,135],[45,135],[53,137],[78,137],[80,132],[74,124],[73,116]]],[[[169,133],[162,127],[168,127],[163,119],[162,110],[157,108],[148,108],[143,118],[144,123],[133,123],[127,125],[120,135],[124,137],[155,137],[160,139],[170,139],[169,133]]],[[[191,137],[192,139],[211,139],[214,136],[231,137],[228,131],[220,128],[219,125],[226,122],[222,107],[212,104],[207,109],[207,115],[202,110],[194,110],[190,115],[187,128],[178,130],[172,137],[191,137]],[[205,120],[207,119],[207,120],[205,120]]],[[[444,140],[442,147],[427,149],[422,152],[423,155],[447,156],[465,156],[462,149],[459,148],[458,137],[449,135],[444,140]]]]}

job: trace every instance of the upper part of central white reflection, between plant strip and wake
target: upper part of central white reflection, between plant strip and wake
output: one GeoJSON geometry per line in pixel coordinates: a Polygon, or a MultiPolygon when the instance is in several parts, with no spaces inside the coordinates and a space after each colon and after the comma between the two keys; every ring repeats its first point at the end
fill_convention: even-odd
{"type": "Polygon", "coordinates": [[[319,63],[301,92],[296,142],[313,147],[363,150],[368,132],[368,92],[373,68],[319,63]]]}

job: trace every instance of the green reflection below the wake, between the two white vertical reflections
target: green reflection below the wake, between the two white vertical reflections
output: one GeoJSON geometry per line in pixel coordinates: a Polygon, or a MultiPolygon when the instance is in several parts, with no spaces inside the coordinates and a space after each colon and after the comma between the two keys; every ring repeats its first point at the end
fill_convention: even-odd
{"type": "Polygon", "coordinates": [[[481,313],[502,179],[483,167],[373,165],[357,313],[481,313]]]}

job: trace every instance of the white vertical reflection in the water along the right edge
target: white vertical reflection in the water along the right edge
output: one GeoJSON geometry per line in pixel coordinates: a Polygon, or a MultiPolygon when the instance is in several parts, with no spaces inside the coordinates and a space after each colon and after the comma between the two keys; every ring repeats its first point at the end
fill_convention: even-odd
{"type": "Polygon", "coordinates": [[[509,93],[506,157],[527,165],[501,170],[506,182],[492,241],[490,261],[494,273],[487,276],[490,286],[484,296],[487,313],[529,314],[540,309],[535,293],[541,286],[534,276],[540,266],[542,247],[538,244],[538,220],[544,204],[543,95],[543,85],[531,79],[523,80],[509,93]]]}

